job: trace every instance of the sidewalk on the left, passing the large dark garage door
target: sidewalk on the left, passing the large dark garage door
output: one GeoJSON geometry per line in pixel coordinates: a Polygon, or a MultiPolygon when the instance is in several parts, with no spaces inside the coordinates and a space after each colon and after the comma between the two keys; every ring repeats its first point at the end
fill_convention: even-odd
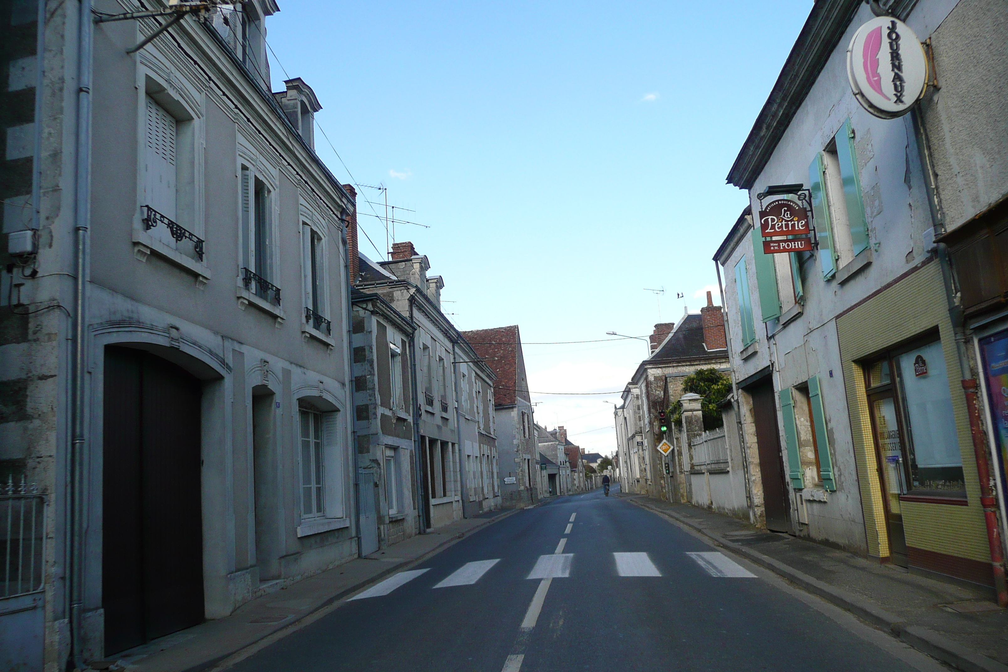
{"type": "Polygon", "coordinates": [[[419,562],[521,509],[496,511],[418,534],[257,597],[231,616],[162,637],[92,663],[94,669],[137,672],[202,672],[264,638],[290,627],[380,578],[419,562]]]}

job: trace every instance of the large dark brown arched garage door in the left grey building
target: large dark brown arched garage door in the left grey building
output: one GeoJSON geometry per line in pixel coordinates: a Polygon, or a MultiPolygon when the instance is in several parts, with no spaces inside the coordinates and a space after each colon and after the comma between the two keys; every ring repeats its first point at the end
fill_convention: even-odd
{"type": "Polygon", "coordinates": [[[204,621],[200,382],[129,348],[105,351],[105,653],[204,621]]]}

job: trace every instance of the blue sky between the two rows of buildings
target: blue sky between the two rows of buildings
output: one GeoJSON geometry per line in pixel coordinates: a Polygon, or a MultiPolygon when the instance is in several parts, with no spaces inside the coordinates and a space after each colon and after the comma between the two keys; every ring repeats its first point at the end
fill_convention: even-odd
{"type": "MultiPolygon", "coordinates": [[[[651,332],[645,288],[665,289],[662,321],[682,314],[676,293],[697,310],[716,288],[711,258],[746,205],[725,175],[811,5],[285,0],[267,35],[274,91],[284,70],[302,78],[353,178],[430,227],[395,238],[444,277],[459,328],[594,341],[651,332]]],[[[317,149],[351,181],[322,134],[317,149]]],[[[359,211],[383,254],[382,223],[359,211]]],[[[381,256],[364,236],[361,251],[381,256]]],[[[524,352],[533,391],[601,392],[645,344],[524,352]]],[[[540,424],[608,453],[605,400],[619,397],[533,395],[540,424]]]]}

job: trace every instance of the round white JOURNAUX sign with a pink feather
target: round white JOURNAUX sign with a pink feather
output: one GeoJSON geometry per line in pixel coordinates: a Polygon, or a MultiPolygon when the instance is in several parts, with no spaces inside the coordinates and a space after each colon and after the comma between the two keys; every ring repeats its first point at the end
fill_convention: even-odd
{"type": "Polygon", "coordinates": [[[876,117],[906,114],[927,87],[927,58],[910,27],[879,16],[854,33],[847,47],[847,77],[861,107],[876,117]]]}

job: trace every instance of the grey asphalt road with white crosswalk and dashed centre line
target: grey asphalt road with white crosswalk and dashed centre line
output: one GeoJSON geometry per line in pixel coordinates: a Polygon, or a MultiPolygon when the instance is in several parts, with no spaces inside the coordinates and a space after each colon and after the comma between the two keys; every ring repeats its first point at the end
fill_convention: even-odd
{"type": "Polygon", "coordinates": [[[947,668],[599,490],[494,523],[232,669],[947,668]]]}

